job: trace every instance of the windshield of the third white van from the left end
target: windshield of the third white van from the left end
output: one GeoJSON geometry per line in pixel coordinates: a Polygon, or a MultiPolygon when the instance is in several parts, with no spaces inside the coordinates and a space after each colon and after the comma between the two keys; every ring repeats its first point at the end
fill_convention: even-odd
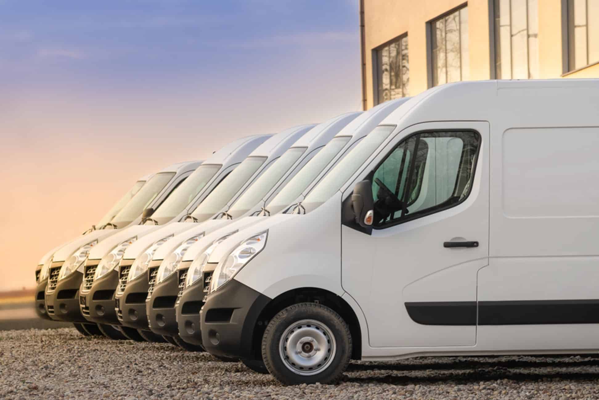
{"type": "Polygon", "coordinates": [[[204,189],[220,167],[221,165],[200,165],[177,189],[173,190],[173,193],[158,207],[152,218],[171,220],[178,216],[204,189]]]}

